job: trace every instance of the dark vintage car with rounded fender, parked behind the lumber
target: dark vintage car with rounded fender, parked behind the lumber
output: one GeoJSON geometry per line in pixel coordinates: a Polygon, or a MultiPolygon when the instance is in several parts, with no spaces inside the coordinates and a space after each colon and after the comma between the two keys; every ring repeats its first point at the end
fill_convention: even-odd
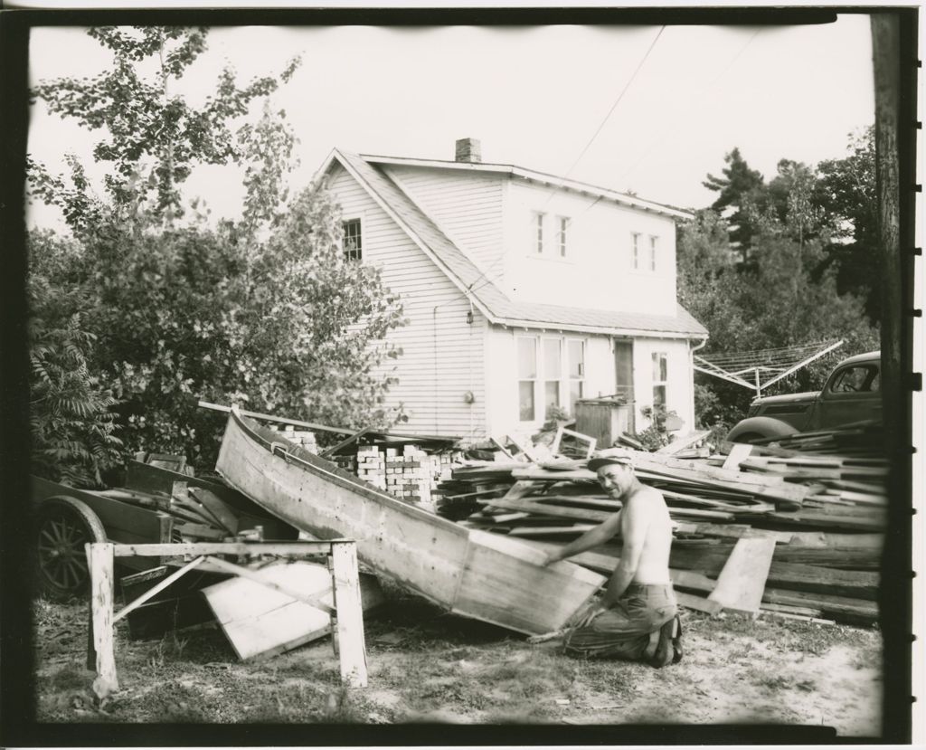
{"type": "Polygon", "coordinates": [[[881,352],[868,352],[836,365],[822,391],[757,398],[727,440],[749,443],[881,417],[881,352]]]}

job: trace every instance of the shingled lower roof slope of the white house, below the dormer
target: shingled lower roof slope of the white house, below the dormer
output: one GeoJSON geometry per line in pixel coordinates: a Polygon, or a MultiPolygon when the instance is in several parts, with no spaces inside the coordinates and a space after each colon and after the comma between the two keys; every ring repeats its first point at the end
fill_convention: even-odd
{"type": "MultiPolygon", "coordinates": [[[[361,156],[334,149],[319,173],[327,172],[335,161],[367,190],[373,200],[407,232],[425,255],[444,271],[460,292],[493,323],[511,327],[622,335],[672,338],[707,336],[707,329],[681,305],[674,316],[669,316],[546,305],[509,299],[507,294],[485,278],[485,274],[469,257],[378,166],[383,163],[382,157],[361,156]]],[[[409,161],[413,160],[404,160],[403,163],[409,161]]]]}

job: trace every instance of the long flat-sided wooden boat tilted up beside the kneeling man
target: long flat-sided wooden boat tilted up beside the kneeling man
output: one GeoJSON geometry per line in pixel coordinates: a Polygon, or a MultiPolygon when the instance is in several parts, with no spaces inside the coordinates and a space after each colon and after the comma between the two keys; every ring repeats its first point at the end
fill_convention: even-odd
{"type": "Polygon", "coordinates": [[[355,539],[362,562],[407,589],[513,631],[561,628],[605,582],[569,562],[543,567],[537,548],[397,500],[234,412],[216,469],[296,528],[355,539]]]}

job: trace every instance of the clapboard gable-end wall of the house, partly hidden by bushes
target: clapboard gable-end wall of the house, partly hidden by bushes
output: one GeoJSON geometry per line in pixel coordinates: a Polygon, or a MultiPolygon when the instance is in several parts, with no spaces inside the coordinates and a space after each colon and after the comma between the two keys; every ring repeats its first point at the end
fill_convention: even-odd
{"type": "Polygon", "coordinates": [[[387,405],[404,405],[401,430],[482,434],[485,319],[474,309],[467,323],[469,301],[344,169],[332,169],[329,186],[344,219],[361,221],[363,262],[381,269],[382,281],[403,300],[407,325],[388,339],[403,353],[379,370],[398,380],[387,405]]]}

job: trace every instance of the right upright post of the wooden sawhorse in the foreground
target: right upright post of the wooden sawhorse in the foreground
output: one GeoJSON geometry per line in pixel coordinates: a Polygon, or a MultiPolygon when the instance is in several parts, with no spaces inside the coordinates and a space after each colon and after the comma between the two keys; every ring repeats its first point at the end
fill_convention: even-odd
{"type": "Polygon", "coordinates": [[[332,567],[341,680],[350,687],[366,687],[367,646],[363,635],[357,544],[332,542],[332,567]]]}

